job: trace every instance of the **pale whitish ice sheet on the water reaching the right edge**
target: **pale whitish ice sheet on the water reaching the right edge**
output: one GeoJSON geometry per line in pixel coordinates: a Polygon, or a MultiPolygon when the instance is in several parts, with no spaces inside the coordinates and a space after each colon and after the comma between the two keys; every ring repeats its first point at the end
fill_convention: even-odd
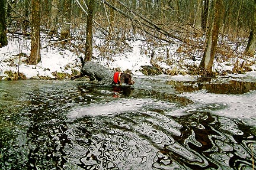
{"type": "Polygon", "coordinates": [[[180,96],[191,99],[194,103],[181,110],[172,112],[172,115],[191,114],[193,112],[202,112],[204,110],[216,109],[215,115],[229,118],[236,118],[248,125],[255,126],[256,123],[256,91],[249,91],[245,94],[214,94],[207,93],[206,90],[199,90],[193,93],[182,93],[180,96]]]}

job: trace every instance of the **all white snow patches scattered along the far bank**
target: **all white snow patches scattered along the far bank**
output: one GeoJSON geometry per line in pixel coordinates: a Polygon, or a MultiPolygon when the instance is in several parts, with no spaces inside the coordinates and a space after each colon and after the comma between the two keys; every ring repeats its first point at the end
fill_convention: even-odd
{"type": "MultiPolygon", "coordinates": [[[[95,40],[94,42],[101,43],[102,38],[95,40]]],[[[45,39],[44,39],[45,40],[45,39]]],[[[151,54],[145,53],[148,47],[146,41],[141,40],[130,40],[127,41],[132,50],[123,53],[116,54],[111,56],[111,61],[105,59],[104,57],[98,57],[99,51],[94,48],[93,55],[98,57],[98,60],[92,60],[97,63],[103,64],[109,68],[120,68],[120,70],[131,70],[135,75],[141,75],[140,66],[149,65],[151,66],[151,54]]],[[[96,44],[97,45],[97,44],[96,44]]],[[[58,73],[66,73],[72,74],[72,70],[80,70],[80,62],[79,56],[82,57],[84,54],[77,54],[71,50],[65,50],[60,48],[61,45],[49,45],[46,41],[41,42],[41,62],[37,65],[28,65],[25,60],[30,55],[30,40],[20,37],[18,38],[9,38],[8,45],[6,47],[0,48],[0,77],[2,80],[7,78],[7,73],[5,71],[12,71],[23,73],[27,79],[39,79],[39,77],[50,77],[55,78],[53,76],[53,72],[58,73]],[[24,57],[18,57],[18,54],[24,53],[26,54],[24,57]],[[20,60],[20,64],[19,64],[20,60]]],[[[161,58],[156,61],[156,64],[162,68],[166,69],[175,69],[178,70],[186,70],[187,67],[185,65],[191,66],[199,66],[200,58],[203,54],[201,52],[197,52],[197,54],[193,54],[197,60],[192,60],[191,58],[185,56],[186,54],[177,53],[179,48],[178,44],[170,44],[163,47],[151,47],[154,49],[154,57],[161,58]],[[169,49],[169,64],[164,62],[166,60],[166,49],[169,49]]],[[[255,57],[254,57],[255,58],[255,57]]],[[[233,66],[231,63],[217,63],[215,61],[213,66],[214,70],[232,70],[233,66]]],[[[251,66],[252,70],[256,70],[256,64],[251,66]]]]}

